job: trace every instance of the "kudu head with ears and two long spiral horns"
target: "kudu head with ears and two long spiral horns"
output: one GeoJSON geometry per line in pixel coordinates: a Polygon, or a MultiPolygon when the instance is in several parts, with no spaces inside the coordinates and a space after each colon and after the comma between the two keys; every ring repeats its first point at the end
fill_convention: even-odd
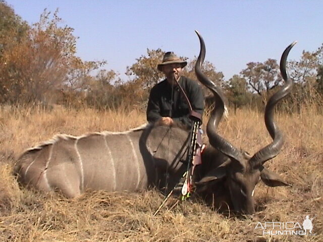
{"type": "Polygon", "coordinates": [[[278,155],[283,145],[283,135],[274,121],[274,108],[292,89],[292,80],[286,72],[286,59],[296,41],[285,49],[281,57],[280,70],[285,80],[285,85],[268,100],[265,107],[265,125],[273,142],[251,156],[234,147],[217,133],[218,125],[225,111],[225,99],[221,89],[201,71],[201,65],[205,57],[205,44],[201,35],[197,31],[196,33],[200,40],[201,49],[195,65],[195,74],[197,79],[211,90],[216,104],[208,120],[206,134],[210,145],[227,157],[221,165],[212,167],[196,184],[197,186],[208,186],[214,181],[225,179],[234,211],[241,214],[253,214],[255,212],[253,191],[260,179],[267,186],[288,186],[280,179],[278,174],[266,169],[263,164],[278,155]]]}

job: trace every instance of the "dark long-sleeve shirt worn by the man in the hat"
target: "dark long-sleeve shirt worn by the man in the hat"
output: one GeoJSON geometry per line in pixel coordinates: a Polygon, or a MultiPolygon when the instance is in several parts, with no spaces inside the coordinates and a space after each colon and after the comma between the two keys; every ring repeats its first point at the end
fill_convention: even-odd
{"type": "MultiPolygon", "coordinates": [[[[204,109],[202,88],[197,82],[187,77],[181,77],[179,84],[185,91],[192,109],[202,115],[204,109]]],[[[156,122],[159,118],[168,116],[172,117],[175,122],[190,126],[192,121],[189,118],[189,105],[178,87],[174,87],[173,102],[171,102],[172,86],[165,79],[150,90],[146,112],[148,122],[156,122]]]]}

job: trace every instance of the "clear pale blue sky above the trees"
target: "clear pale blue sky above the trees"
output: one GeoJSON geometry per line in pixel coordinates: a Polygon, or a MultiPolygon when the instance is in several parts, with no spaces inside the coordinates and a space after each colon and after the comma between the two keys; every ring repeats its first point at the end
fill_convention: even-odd
{"type": "MultiPolygon", "coordinates": [[[[29,24],[46,8],[75,29],[77,55],[84,61],[105,59],[106,69],[120,74],[146,49],[161,48],[193,58],[199,53],[198,30],[205,59],[228,80],[248,62],[280,59],[298,40],[290,59],[323,43],[323,1],[181,1],[181,0],[6,0],[29,24]]],[[[121,75],[125,78],[124,75],[121,75]]]]}

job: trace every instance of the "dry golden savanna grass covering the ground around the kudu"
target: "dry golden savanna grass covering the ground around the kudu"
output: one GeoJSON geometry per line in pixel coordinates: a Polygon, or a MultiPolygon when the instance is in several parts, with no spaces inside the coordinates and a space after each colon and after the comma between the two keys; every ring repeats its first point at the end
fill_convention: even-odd
{"type": "MultiPolygon", "coordinates": [[[[0,107],[0,241],[323,241],[323,124],[313,107],[298,114],[277,113],[286,135],[281,153],[265,166],[292,187],[255,190],[256,214],[238,219],[202,203],[163,201],[157,191],[88,192],[76,199],[19,188],[11,172],[18,156],[58,133],[81,135],[103,130],[125,131],[145,123],[137,110],[52,110],[0,107]],[[313,219],[316,235],[262,235],[258,222],[313,219]]],[[[204,119],[206,120],[207,117],[204,119]]],[[[205,122],[206,123],[206,122],[205,122]]],[[[263,114],[231,111],[219,129],[230,142],[249,153],[271,142],[263,114]]]]}

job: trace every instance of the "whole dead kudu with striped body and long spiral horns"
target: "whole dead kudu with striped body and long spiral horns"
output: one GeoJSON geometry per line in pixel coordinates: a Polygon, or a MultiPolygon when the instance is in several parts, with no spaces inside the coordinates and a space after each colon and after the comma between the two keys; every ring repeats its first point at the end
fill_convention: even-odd
{"type": "MultiPolygon", "coordinates": [[[[216,199],[216,206],[228,204],[244,214],[254,213],[253,191],[261,178],[268,186],[286,186],[277,174],[264,168],[283,145],[283,136],[274,123],[274,107],[292,87],[286,73],[291,44],[281,59],[285,85],[268,101],[265,124],[273,138],[270,145],[252,157],[232,146],[217,134],[225,104],[221,90],[201,72],[205,45],[198,34],[201,51],[195,73],[198,80],[216,97],[216,106],[207,123],[209,145],[202,153],[202,164],[194,177],[196,192],[216,199]]],[[[138,191],[150,186],[162,188],[166,177],[174,186],[184,173],[189,131],[179,127],[146,125],[128,132],[93,133],[80,137],[58,135],[27,150],[15,165],[18,181],[46,192],[60,190],[75,197],[86,190],[138,191]]]]}

